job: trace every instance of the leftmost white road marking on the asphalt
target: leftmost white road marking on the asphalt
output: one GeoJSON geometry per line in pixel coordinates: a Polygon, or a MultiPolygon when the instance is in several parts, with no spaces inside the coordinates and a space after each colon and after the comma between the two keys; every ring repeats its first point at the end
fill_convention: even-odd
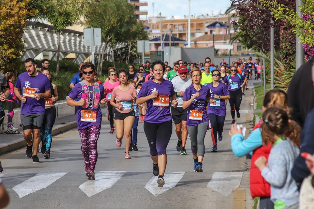
{"type": "Polygon", "coordinates": [[[14,186],[12,189],[22,198],[35,191],[47,188],[56,180],[66,175],[68,172],[44,172],[38,173],[30,179],[14,186]]]}

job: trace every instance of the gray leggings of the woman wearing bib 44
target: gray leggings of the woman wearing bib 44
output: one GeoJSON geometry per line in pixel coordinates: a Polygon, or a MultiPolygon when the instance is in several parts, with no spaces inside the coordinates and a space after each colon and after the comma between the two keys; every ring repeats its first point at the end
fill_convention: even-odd
{"type": "Polygon", "coordinates": [[[198,154],[201,157],[204,157],[205,154],[204,138],[207,128],[208,122],[187,126],[187,131],[191,139],[191,151],[193,154],[198,154]]]}

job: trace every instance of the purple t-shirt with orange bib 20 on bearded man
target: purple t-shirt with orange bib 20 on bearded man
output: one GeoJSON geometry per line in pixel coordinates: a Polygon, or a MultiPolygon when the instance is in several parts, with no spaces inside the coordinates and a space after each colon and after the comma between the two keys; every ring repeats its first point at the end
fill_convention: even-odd
{"type": "MultiPolygon", "coordinates": [[[[26,93],[24,94],[25,88],[35,89],[36,94],[45,93],[46,91],[50,90],[50,82],[48,77],[42,73],[38,73],[37,76],[29,76],[28,72],[24,72],[18,76],[15,87],[20,88],[22,90],[22,96],[25,96],[28,92],[26,89],[26,93]]],[[[31,90],[29,91],[32,92],[31,90]]],[[[36,100],[34,97],[26,97],[26,102],[21,102],[21,115],[27,114],[45,114],[44,98],[36,100]]]]}

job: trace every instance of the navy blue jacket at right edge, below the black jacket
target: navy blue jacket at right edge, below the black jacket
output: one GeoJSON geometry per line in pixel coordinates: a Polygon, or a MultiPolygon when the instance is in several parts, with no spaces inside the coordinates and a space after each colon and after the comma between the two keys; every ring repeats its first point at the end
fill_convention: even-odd
{"type": "MultiPolygon", "coordinates": [[[[309,154],[314,153],[314,108],[306,117],[304,123],[304,129],[301,134],[301,149],[300,153],[307,152],[309,154]]],[[[310,171],[305,164],[305,159],[300,155],[295,160],[295,164],[291,170],[291,175],[297,183],[302,183],[303,179],[305,179],[308,175],[310,175],[310,171]]]]}

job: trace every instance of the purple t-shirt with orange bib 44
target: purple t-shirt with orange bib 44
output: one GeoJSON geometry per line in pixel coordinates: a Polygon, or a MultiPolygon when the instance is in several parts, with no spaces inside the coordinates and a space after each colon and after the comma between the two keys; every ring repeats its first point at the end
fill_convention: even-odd
{"type": "Polygon", "coordinates": [[[210,97],[210,92],[209,88],[207,86],[201,85],[201,89],[199,91],[196,91],[193,84],[189,87],[184,92],[183,95],[183,100],[187,101],[191,99],[196,92],[200,93],[200,96],[196,97],[194,101],[191,103],[190,107],[188,107],[188,112],[187,112],[187,125],[189,126],[194,126],[198,125],[200,123],[207,122],[208,123],[208,116],[206,112],[206,98],[210,97]],[[194,117],[194,113],[197,114],[195,111],[202,111],[203,116],[201,120],[195,120],[197,117],[199,118],[199,114],[197,117],[194,117]],[[194,120],[190,119],[190,117],[194,118],[194,120]]]}

